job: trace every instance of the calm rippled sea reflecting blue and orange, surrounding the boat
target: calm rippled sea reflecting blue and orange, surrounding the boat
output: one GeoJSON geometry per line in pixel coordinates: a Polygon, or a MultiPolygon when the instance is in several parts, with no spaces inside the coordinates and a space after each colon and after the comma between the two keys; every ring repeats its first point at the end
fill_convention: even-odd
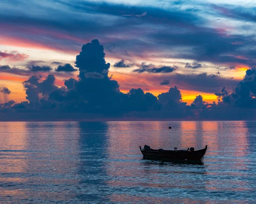
{"type": "Polygon", "coordinates": [[[2,122],[0,203],[256,203],[256,122],[2,122]],[[209,149],[173,164],[144,144],[209,149]]]}

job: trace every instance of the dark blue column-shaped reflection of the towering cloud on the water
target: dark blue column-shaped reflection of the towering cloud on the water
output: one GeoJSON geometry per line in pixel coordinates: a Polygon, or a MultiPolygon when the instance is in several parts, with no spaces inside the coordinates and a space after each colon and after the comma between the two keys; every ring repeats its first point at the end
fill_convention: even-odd
{"type": "Polygon", "coordinates": [[[81,188],[77,194],[82,201],[107,201],[103,192],[106,187],[106,165],[108,158],[108,124],[105,122],[79,123],[79,152],[81,188]]]}

